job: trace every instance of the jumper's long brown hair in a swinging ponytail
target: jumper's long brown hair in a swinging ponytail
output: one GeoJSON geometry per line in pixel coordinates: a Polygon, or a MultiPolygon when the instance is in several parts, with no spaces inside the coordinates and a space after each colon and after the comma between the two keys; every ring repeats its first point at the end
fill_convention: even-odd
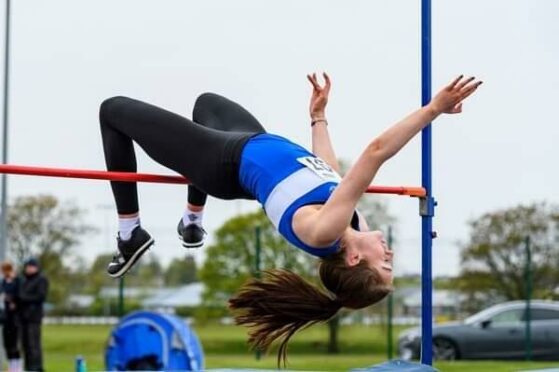
{"type": "Polygon", "coordinates": [[[365,261],[348,267],[344,251],[323,258],[320,290],[299,275],[283,269],[264,271],[229,300],[235,323],[250,328],[249,344],[265,351],[280,339],[278,367],[287,362],[287,344],[295,332],[332,318],[342,307],[361,309],[379,302],[391,291],[378,271],[365,261]]]}

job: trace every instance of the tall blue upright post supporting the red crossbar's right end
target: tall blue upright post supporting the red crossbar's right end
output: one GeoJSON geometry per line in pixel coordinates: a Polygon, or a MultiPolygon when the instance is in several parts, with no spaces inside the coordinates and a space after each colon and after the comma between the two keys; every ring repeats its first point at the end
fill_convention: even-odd
{"type": "MultiPolygon", "coordinates": [[[[421,0],[421,104],[431,101],[431,0],[421,0]]],[[[421,183],[426,196],[421,199],[421,363],[433,363],[433,282],[432,248],[435,198],[432,193],[431,125],[421,132],[421,183]]]]}

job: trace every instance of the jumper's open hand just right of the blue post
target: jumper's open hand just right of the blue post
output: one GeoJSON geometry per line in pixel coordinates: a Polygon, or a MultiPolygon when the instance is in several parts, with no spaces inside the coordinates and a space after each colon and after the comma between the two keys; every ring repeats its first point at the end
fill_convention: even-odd
{"type": "Polygon", "coordinates": [[[473,76],[467,79],[463,77],[463,75],[458,76],[431,100],[429,106],[436,114],[462,112],[462,101],[474,93],[482,83],[476,81],[473,76]]]}

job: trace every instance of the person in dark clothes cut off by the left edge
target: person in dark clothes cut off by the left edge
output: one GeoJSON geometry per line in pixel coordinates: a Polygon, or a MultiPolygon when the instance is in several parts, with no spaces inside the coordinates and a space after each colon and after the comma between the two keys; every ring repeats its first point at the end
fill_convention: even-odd
{"type": "Polygon", "coordinates": [[[2,284],[0,292],[4,295],[4,349],[8,358],[8,371],[21,371],[21,356],[19,353],[19,305],[17,303],[19,278],[16,276],[11,262],[2,262],[2,284]]]}

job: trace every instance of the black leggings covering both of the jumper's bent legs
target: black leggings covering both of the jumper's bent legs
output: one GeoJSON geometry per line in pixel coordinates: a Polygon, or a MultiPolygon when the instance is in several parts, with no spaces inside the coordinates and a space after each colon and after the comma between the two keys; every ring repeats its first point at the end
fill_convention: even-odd
{"type": "MultiPolygon", "coordinates": [[[[254,199],[239,184],[244,144],[262,125],[240,105],[217,94],[196,100],[193,120],[126,97],[101,104],[99,118],[109,171],[136,172],[136,142],[156,162],[188,178],[188,202],[202,206],[207,195],[254,199]]],[[[136,183],[112,181],[119,214],[138,212],[136,183]]]]}

